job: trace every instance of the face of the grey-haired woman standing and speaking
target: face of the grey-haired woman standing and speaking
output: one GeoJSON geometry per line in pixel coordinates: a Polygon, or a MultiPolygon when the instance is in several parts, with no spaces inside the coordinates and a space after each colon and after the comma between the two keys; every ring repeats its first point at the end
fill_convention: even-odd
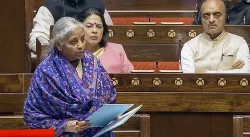
{"type": "Polygon", "coordinates": [[[67,38],[57,43],[57,49],[69,60],[74,61],[83,57],[85,48],[84,31],[80,26],[67,38]]]}

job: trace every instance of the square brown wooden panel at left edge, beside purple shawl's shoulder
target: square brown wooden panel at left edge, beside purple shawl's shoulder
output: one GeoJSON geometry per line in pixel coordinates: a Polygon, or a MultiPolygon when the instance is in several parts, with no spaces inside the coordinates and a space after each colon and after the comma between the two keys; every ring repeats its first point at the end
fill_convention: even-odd
{"type": "Polygon", "coordinates": [[[22,93],[23,74],[0,74],[0,93],[22,93]]]}

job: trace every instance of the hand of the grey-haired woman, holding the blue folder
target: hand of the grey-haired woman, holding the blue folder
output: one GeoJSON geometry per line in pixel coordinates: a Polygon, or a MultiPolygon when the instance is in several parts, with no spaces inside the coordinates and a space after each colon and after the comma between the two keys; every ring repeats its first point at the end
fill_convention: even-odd
{"type": "Polygon", "coordinates": [[[88,121],[70,120],[67,123],[65,132],[78,133],[80,131],[90,128],[90,126],[91,124],[88,121]]]}

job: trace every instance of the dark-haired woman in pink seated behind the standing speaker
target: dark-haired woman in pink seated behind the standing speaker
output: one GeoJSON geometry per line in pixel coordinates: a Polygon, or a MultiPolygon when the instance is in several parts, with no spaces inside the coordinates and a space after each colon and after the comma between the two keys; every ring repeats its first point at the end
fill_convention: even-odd
{"type": "Polygon", "coordinates": [[[108,26],[98,10],[84,10],[78,20],[84,25],[85,49],[100,60],[108,73],[129,73],[134,69],[122,45],[108,42],[108,26]]]}

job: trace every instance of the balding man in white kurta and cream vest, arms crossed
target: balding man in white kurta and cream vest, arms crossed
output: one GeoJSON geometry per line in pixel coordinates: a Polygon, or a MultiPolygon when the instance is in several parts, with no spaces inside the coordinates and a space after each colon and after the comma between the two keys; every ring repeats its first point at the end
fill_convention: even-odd
{"type": "Polygon", "coordinates": [[[249,48],[237,35],[225,32],[225,5],[207,0],[201,8],[204,32],[184,44],[181,67],[187,73],[248,73],[249,48]]]}

